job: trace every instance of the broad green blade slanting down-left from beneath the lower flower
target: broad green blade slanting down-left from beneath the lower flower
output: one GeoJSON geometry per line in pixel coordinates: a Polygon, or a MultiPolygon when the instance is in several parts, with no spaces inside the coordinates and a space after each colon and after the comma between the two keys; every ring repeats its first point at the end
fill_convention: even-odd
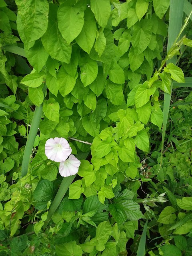
{"type": "Polygon", "coordinates": [[[74,180],[76,175],[72,175],[72,176],[69,176],[69,177],[64,177],[62,182],[61,182],[61,185],[58,189],[58,192],[51,204],[51,207],[50,207],[50,210],[48,212],[48,215],[47,215],[47,219],[43,225],[43,229],[46,228],[46,226],[48,225],[52,215],[54,214],[54,212],[57,210],[61,200],[63,199],[65,193],[67,192],[70,184],[72,183],[72,181],[74,180]]]}

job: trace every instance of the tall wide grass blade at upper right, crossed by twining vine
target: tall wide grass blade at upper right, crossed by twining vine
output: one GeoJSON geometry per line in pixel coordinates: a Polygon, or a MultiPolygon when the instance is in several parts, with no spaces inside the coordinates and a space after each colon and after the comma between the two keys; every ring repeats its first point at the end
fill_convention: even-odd
{"type": "MultiPolygon", "coordinates": [[[[185,0],[170,0],[170,14],[169,14],[169,29],[168,29],[168,46],[167,52],[174,44],[178,34],[182,27],[182,17],[184,11],[185,0]]],[[[172,62],[176,64],[177,56],[167,61],[167,64],[172,62]]],[[[173,82],[171,85],[172,92],[173,82]]],[[[171,94],[164,94],[164,106],[163,106],[163,131],[162,131],[162,151],[164,147],[164,139],[166,132],[166,125],[168,121],[169,108],[170,108],[171,94]]]]}

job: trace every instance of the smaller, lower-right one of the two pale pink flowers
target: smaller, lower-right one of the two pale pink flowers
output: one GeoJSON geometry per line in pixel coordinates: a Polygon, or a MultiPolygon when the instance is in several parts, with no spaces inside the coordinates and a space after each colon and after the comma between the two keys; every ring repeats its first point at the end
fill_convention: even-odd
{"type": "Polygon", "coordinates": [[[59,173],[62,177],[75,175],[79,170],[80,164],[80,160],[78,160],[74,155],[70,155],[67,160],[60,163],[59,173]]]}

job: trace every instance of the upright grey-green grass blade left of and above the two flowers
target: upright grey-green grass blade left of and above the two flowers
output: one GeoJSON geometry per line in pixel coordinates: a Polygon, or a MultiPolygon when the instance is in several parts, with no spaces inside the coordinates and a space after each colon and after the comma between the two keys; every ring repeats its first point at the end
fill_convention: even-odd
{"type": "MultiPolygon", "coordinates": [[[[44,87],[42,89],[44,94],[46,92],[46,88],[47,88],[47,86],[46,86],[46,84],[44,84],[44,87]]],[[[30,128],[29,135],[28,135],[28,140],[27,140],[24,155],[23,155],[22,169],[21,169],[22,177],[26,176],[26,174],[28,172],[30,155],[31,155],[31,152],[33,149],[33,145],[35,142],[37,132],[38,132],[38,128],[39,128],[39,124],[40,124],[40,120],[41,120],[41,116],[42,116],[42,110],[43,110],[43,103],[40,104],[39,107],[36,106],[36,108],[35,108],[33,120],[31,123],[31,128],[30,128]]]]}

